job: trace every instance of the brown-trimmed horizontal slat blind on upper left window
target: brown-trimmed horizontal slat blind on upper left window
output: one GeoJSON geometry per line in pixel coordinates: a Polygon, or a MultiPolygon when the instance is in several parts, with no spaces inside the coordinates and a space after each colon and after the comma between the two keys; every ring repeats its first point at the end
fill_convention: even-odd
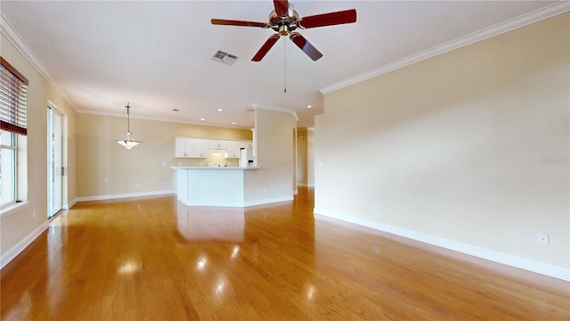
{"type": "Polygon", "coordinates": [[[28,79],[0,57],[0,126],[20,135],[28,135],[28,79]]]}

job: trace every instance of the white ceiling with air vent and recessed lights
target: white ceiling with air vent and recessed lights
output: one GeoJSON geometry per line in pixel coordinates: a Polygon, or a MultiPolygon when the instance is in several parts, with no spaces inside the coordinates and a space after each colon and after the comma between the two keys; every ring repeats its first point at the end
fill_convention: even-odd
{"type": "Polygon", "coordinates": [[[303,128],[313,127],[314,115],[323,112],[320,89],[553,2],[293,4],[301,17],[354,8],[357,21],[297,29],[323,53],[319,61],[281,37],[262,62],[251,62],[273,30],[214,26],[210,19],[266,22],[271,0],[2,0],[1,12],[3,25],[9,22],[76,111],[125,116],[130,102],[132,118],[252,128],[250,110],[263,105],[296,111],[303,128]],[[240,59],[216,62],[211,58],[218,50],[240,59]]]}

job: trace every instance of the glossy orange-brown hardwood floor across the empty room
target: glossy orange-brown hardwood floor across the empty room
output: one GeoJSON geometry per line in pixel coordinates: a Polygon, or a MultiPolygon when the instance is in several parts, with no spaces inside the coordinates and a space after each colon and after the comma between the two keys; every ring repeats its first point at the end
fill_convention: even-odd
{"type": "Polygon", "coordinates": [[[82,202],[1,274],[2,320],[570,320],[569,284],[294,202],[82,202]]]}

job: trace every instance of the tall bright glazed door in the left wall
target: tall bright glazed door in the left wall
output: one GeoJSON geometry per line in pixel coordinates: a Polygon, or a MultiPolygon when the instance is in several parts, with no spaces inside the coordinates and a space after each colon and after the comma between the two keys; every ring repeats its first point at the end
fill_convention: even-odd
{"type": "Polygon", "coordinates": [[[47,108],[47,218],[52,218],[61,209],[63,182],[61,114],[47,108]]]}

